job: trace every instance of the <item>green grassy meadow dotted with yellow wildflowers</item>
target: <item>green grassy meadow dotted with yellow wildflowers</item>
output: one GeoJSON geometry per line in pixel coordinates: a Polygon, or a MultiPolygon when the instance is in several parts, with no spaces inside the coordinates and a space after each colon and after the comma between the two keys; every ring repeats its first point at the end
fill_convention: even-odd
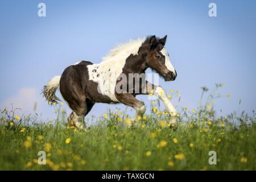
{"type": "MultiPolygon", "coordinates": [[[[180,97],[171,90],[169,98],[174,96],[180,97]]],[[[131,116],[117,109],[86,132],[67,126],[61,105],[56,105],[56,119],[45,123],[15,115],[14,109],[2,110],[0,169],[255,170],[254,112],[217,117],[213,92],[208,98],[197,109],[179,109],[176,131],[157,101],[151,103],[151,114],[131,126],[131,116]],[[46,152],[45,165],[38,164],[39,151],[46,152]],[[216,152],[217,164],[209,163],[210,151],[216,152]]]]}

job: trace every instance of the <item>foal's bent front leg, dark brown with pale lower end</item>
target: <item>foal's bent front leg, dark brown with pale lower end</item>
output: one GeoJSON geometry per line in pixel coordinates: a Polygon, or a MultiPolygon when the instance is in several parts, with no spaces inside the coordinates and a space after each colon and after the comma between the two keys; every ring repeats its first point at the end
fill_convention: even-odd
{"type": "Polygon", "coordinates": [[[144,102],[137,100],[137,98],[135,98],[133,96],[133,94],[130,94],[130,93],[115,93],[115,97],[122,104],[125,104],[127,106],[131,106],[136,110],[136,115],[135,115],[134,119],[137,119],[139,115],[141,117],[143,117],[143,114],[146,111],[146,107],[144,105],[144,102]]]}

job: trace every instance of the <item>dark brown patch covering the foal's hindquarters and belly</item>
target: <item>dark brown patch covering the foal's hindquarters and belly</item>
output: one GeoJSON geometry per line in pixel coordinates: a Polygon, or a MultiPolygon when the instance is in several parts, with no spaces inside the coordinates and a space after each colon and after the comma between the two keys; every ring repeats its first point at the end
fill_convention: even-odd
{"type": "Polygon", "coordinates": [[[60,93],[77,115],[85,114],[95,102],[113,102],[108,96],[98,93],[97,82],[89,80],[87,65],[91,64],[89,61],[81,61],[71,65],[60,78],[60,93]]]}

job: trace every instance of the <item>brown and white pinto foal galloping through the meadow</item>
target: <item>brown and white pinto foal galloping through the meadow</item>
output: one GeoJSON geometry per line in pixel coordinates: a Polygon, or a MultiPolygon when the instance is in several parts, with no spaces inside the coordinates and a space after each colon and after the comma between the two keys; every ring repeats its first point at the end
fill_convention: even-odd
{"type": "Polygon", "coordinates": [[[164,48],[166,39],[167,36],[159,39],[154,35],[131,40],[112,49],[99,64],[80,61],[71,65],[61,76],[53,77],[44,86],[44,97],[50,105],[60,101],[55,96],[57,88],[60,88],[61,95],[72,109],[68,117],[68,125],[85,129],[84,117],[96,102],[122,103],[133,107],[137,115],[143,115],[146,107],[135,96],[154,93],[163,101],[170,113],[170,124],[176,128],[177,111],[168,100],[164,89],[146,81],[144,76],[140,76],[145,74],[147,68],[151,68],[165,81],[175,80],[177,73],[164,48]],[[134,77],[130,77],[131,75],[135,77],[139,75],[142,79],[134,83],[134,77]]]}

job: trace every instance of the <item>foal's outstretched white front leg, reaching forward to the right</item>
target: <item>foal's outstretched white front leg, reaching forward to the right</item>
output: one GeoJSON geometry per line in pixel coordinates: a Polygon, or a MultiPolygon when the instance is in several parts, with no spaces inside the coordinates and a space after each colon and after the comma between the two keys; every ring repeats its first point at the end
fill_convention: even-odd
{"type": "Polygon", "coordinates": [[[172,105],[171,101],[168,99],[166,91],[162,88],[162,86],[157,86],[151,84],[151,82],[146,82],[146,87],[144,90],[147,94],[153,93],[155,96],[160,98],[163,101],[163,104],[166,106],[166,109],[169,111],[171,118],[170,118],[170,127],[177,129],[177,110],[175,109],[174,105],[172,105]]]}

